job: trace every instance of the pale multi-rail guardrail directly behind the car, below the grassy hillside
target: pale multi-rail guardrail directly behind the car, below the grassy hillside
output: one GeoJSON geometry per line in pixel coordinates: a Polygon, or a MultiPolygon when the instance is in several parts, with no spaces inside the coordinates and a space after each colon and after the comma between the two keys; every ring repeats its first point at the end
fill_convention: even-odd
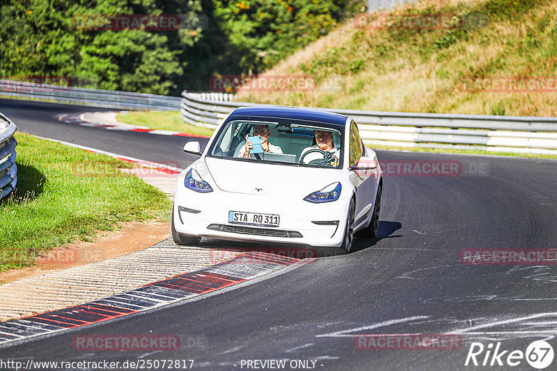
{"type": "MultiPolygon", "coordinates": [[[[182,92],[180,113],[188,124],[217,127],[237,107],[262,106],[233,101],[230,94],[182,92]]],[[[264,106],[264,105],[263,105],[264,106]]],[[[479,149],[557,155],[557,117],[447,115],[317,108],[352,116],[367,145],[479,149]]]]}

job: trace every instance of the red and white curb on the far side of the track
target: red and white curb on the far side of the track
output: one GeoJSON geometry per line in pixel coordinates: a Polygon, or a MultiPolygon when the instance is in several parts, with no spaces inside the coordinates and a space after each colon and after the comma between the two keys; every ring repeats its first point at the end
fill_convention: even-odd
{"type": "Polygon", "coordinates": [[[112,111],[112,112],[88,112],[88,113],[70,113],[58,116],[58,120],[66,124],[88,126],[98,129],[117,130],[117,131],[133,131],[135,133],[149,133],[156,135],[173,135],[189,138],[209,138],[205,135],[194,135],[190,133],[182,133],[180,131],[149,129],[147,126],[130,125],[119,122],[116,115],[127,113],[128,111],[112,111]]]}

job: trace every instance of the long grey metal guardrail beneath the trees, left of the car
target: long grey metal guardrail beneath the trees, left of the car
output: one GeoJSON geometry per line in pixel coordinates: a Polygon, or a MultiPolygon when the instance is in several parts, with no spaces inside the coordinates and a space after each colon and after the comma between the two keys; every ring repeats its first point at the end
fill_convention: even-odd
{"type": "Polygon", "coordinates": [[[1,80],[0,95],[134,110],[178,110],[179,97],[1,80]]]}

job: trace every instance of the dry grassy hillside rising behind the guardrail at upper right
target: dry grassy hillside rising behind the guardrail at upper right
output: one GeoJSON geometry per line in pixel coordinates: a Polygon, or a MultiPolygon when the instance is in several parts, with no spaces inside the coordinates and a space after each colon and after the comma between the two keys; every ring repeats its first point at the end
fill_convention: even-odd
{"type": "Polygon", "coordinates": [[[313,76],[315,90],[240,92],[235,100],[557,116],[556,0],[423,0],[395,9],[388,22],[378,19],[367,21],[379,28],[352,19],[266,73],[313,76]],[[456,26],[409,27],[397,20],[431,14],[449,15],[456,26]]]}

